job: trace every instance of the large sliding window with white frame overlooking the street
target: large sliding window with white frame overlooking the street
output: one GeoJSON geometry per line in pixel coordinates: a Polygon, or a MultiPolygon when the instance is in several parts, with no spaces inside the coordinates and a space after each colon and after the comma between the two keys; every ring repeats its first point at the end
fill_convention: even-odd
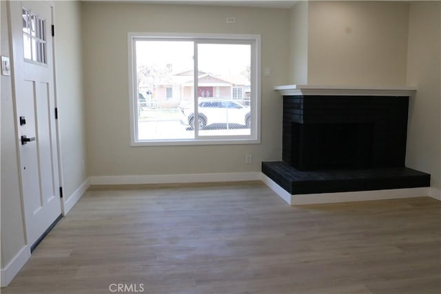
{"type": "Polygon", "coordinates": [[[258,35],[129,34],[132,145],[259,143],[258,35]]]}

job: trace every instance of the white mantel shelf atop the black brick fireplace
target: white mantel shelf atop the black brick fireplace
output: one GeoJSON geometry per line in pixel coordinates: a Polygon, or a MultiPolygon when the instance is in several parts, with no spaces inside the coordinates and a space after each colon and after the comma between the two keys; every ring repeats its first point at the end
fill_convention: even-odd
{"type": "Polygon", "coordinates": [[[281,85],[274,87],[282,96],[413,96],[416,87],[347,87],[321,85],[281,85]]]}

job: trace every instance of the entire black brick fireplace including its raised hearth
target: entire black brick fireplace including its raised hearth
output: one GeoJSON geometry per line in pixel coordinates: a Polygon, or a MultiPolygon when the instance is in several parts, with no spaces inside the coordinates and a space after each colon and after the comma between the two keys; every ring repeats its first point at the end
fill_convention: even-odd
{"type": "Polygon", "coordinates": [[[283,161],[262,164],[280,187],[294,195],[430,185],[429,174],[404,166],[409,95],[305,92],[283,92],[283,161]]]}

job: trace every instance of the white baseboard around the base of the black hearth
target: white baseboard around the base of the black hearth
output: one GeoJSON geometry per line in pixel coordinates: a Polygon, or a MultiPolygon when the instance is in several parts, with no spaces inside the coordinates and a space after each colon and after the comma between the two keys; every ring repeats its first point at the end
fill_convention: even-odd
{"type": "MultiPolygon", "coordinates": [[[[302,204],[324,204],[338,202],[353,202],[367,200],[386,200],[396,198],[415,198],[421,196],[430,196],[429,187],[407,188],[407,189],[386,189],[374,191],[352,191],[352,192],[336,192],[336,193],[311,193],[291,195],[285,189],[280,187],[276,182],[268,178],[265,174],[261,175],[263,182],[280,198],[290,205],[302,204]]],[[[433,188],[432,188],[433,189],[433,188]]],[[[436,189],[433,189],[437,191],[436,189]]],[[[435,192],[433,192],[435,194],[435,192]]],[[[439,194],[438,194],[439,195],[439,194]]],[[[431,196],[433,197],[433,196],[431,196]]],[[[435,198],[435,197],[433,197],[435,198]]],[[[437,199],[437,198],[435,198],[437,199]]]]}

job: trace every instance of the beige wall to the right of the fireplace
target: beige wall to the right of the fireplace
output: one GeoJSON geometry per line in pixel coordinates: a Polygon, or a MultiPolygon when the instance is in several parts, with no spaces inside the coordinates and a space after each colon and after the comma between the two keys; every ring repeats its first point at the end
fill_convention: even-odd
{"type": "Polygon", "coordinates": [[[407,83],[418,92],[409,105],[407,166],[431,174],[441,189],[441,2],[415,2],[409,10],[407,83]]]}

